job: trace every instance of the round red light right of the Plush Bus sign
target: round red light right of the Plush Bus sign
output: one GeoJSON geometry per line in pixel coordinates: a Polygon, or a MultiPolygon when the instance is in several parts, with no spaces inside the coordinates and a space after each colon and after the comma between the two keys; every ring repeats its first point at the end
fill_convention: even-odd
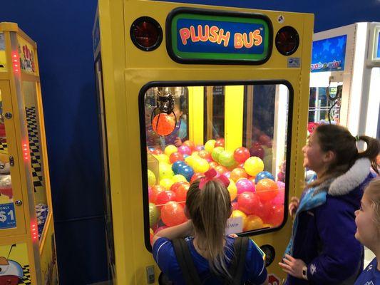
{"type": "Polygon", "coordinates": [[[290,56],[299,46],[299,36],[295,28],[284,26],[277,32],[275,38],[276,48],[284,56],[290,56]]]}

